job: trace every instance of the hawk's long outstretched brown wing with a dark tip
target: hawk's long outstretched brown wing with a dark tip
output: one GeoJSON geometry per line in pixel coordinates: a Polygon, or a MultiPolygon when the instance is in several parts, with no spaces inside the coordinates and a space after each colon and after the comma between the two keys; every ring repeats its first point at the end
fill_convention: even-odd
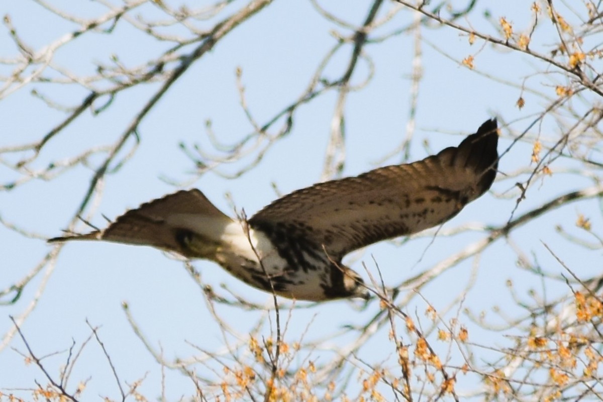
{"type": "Polygon", "coordinates": [[[441,224],[486,192],[498,162],[496,119],[457,147],[406,165],[327,181],[277,199],[250,220],[273,241],[313,241],[340,259],[379,240],[441,224]]]}

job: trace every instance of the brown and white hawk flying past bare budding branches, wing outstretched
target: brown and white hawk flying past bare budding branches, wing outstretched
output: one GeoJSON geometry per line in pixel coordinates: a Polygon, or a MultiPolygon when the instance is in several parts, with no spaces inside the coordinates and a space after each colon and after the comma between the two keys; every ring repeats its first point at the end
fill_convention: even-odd
{"type": "Polygon", "coordinates": [[[368,297],[341,263],[350,251],[443,224],[486,192],[498,163],[496,119],[426,159],[326,181],[232,219],[200,190],[142,204],[103,230],[48,242],[104,240],[207,259],[263,291],[296,300],[368,297]]]}

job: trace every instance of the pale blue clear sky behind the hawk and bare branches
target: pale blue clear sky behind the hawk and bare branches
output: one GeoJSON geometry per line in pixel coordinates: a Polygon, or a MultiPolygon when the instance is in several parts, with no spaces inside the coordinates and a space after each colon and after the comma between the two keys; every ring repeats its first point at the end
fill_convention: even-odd
{"type": "MultiPolygon", "coordinates": [[[[56,1],[52,4],[69,9],[71,13],[90,17],[100,14],[104,9],[96,2],[56,1]]],[[[235,7],[240,7],[237,4],[235,2],[235,7]]],[[[518,30],[528,26],[531,16],[529,2],[514,0],[504,4],[478,2],[478,11],[470,17],[470,24],[476,30],[497,36],[495,27],[482,17],[482,13],[491,8],[495,21],[504,15],[513,21],[518,30]]],[[[192,2],[190,4],[191,8],[195,5],[192,2]]],[[[360,24],[368,6],[368,2],[336,0],[329,3],[329,10],[353,24],[360,24]]],[[[384,10],[392,6],[393,4],[388,4],[384,10]]],[[[51,16],[34,1],[8,1],[3,3],[2,9],[3,14],[10,14],[14,27],[34,49],[54,42],[75,27],[51,16]]],[[[139,12],[148,18],[160,16],[153,5],[140,7],[139,12]]],[[[394,21],[387,25],[388,30],[406,26],[411,23],[411,18],[412,14],[409,12],[397,14],[394,21]]],[[[459,23],[467,25],[464,20],[459,23]]],[[[553,41],[554,37],[550,36],[552,31],[547,32],[549,28],[541,28],[537,35],[538,42],[553,41]]],[[[189,69],[142,122],[139,149],[118,174],[107,176],[103,198],[99,200],[98,208],[93,213],[92,223],[104,227],[102,215],[115,218],[140,203],[174,192],[177,188],[162,181],[162,177],[182,182],[191,179],[194,166],[178,148],[178,143],[200,143],[207,146],[207,119],[212,120],[216,136],[226,143],[235,142],[252,131],[238,104],[235,82],[235,69],[238,66],[243,71],[248,105],[257,121],[264,123],[294,101],[308,84],[321,58],[335,43],[329,33],[332,29],[333,25],[318,16],[308,1],[277,1],[236,28],[227,39],[218,43],[211,54],[189,69]]],[[[349,34],[348,31],[338,29],[349,34]]],[[[377,30],[377,33],[387,32],[377,30]]],[[[535,64],[533,59],[506,50],[494,51],[490,45],[485,45],[475,56],[476,71],[470,71],[459,65],[458,61],[469,54],[476,54],[484,46],[483,42],[478,41],[470,46],[467,37],[459,36],[449,28],[424,28],[423,35],[426,39],[421,45],[424,77],[420,83],[417,131],[411,160],[422,159],[430,152],[457,145],[463,138],[462,135],[473,133],[482,122],[493,116],[500,116],[501,123],[511,122],[513,130],[522,132],[532,120],[526,117],[541,111],[545,106],[540,98],[524,93],[526,105],[519,110],[515,105],[520,95],[519,89],[508,86],[504,81],[521,85],[523,77],[543,68],[542,65],[535,64]],[[442,51],[456,60],[446,57],[442,51]],[[479,74],[480,72],[491,74],[497,80],[479,74]],[[431,151],[422,146],[423,140],[429,140],[431,151]]],[[[393,151],[405,137],[412,40],[411,36],[404,34],[382,45],[365,48],[373,57],[376,73],[368,87],[349,96],[346,108],[346,176],[356,175],[379,165],[400,162],[399,154],[387,161],[382,158],[393,151]]],[[[165,49],[167,46],[169,45],[154,42],[127,24],[120,23],[111,35],[86,35],[81,40],[70,43],[57,52],[54,62],[80,73],[91,73],[95,69],[95,63],[109,63],[110,54],[118,55],[122,63],[130,66],[147,60],[151,55],[157,54],[158,49],[165,49]]],[[[350,49],[349,46],[344,46],[339,51],[326,69],[327,78],[338,78],[343,74],[350,49]]],[[[0,57],[14,54],[14,44],[8,37],[6,28],[2,28],[0,57]]],[[[7,75],[10,71],[7,66],[1,66],[0,74],[7,75]]],[[[352,81],[357,83],[364,79],[366,71],[365,66],[361,65],[352,81]]],[[[539,76],[537,81],[529,81],[529,85],[552,94],[552,82],[560,80],[560,77],[551,77],[551,82],[545,82],[541,81],[543,76],[539,76]]],[[[63,114],[45,107],[39,99],[30,95],[31,89],[37,89],[65,104],[73,104],[86,95],[84,90],[75,87],[34,84],[3,99],[0,102],[0,147],[39,139],[62,120],[63,114]]],[[[34,167],[42,168],[51,161],[66,159],[76,154],[78,149],[113,142],[124,130],[133,113],[156,89],[157,84],[151,84],[127,90],[115,99],[112,107],[96,118],[90,113],[84,113],[65,133],[46,146],[34,167]]],[[[292,132],[267,152],[256,169],[235,180],[208,172],[186,187],[201,189],[216,206],[233,215],[225,196],[229,193],[238,209],[244,208],[248,215],[252,215],[276,198],[271,183],[275,183],[280,192],[288,193],[317,182],[320,180],[326,152],[335,97],[335,92],[330,92],[302,106],[295,116],[292,132]]],[[[557,133],[554,131],[554,124],[547,124],[548,127],[543,128],[543,135],[554,137],[557,133]]],[[[508,134],[509,131],[503,128],[499,152],[510,146],[511,138],[508,134]]],[[[490,225],[507,222],[516,204],[517,191],[513,187],[514,181],[500,180],[504,178],[504,172],[529,166],[530,156],[531,146],[518,143],[500,161],[499,170],[502,173],[499,174],[499,181],[494,183],[493,190],[499,194],[508,193],[508,198],[494,198],[487,194],[470,204],[444,228],[466,222],[485,222],[490,225]]],[[[19,155],[11,157],[17,159],[19,155]]],[[[96,166],[94,163],[99,160],[92,159],[91,164],[96,166]]],[[[566,162],[559,163],[558,166],[568,166],[566,162]]],[[[235,163],[232,166],[220,166],[220,169],[234,172],[241,166],[241,163],[235,163]]],[[[5,221],[40,236],[57,236],[80,204],[90,177],[92,170],[80,166],[49,182],[32,181],[16,190],[0,192],[0,216],[5,221]]],[[[19,174],[0,166],[1,183],[10,183],[17,178],[19,174]]],[[[586,182],[586,178],[584,180],[586,182]]],[[[581,187],[584,187],[584,183],[576,181],[575,176],[567,180],[563,172],[545,180],[539,178],[532,184],[528,198],[520,204],[515,216],[561,193],[581,187]]],[[[593,226],[601,225],[599,202],[591,199],[579,205],[564,207],[549,214],[547,219],[527,225],[513,233],[511,242],[527,254],[534,253],[547,271],[561,273],[563,268],[555,262],[542,243],[556,247],[555,250],[568,266],[588,277],[600,269],[601,253],[586,253],[565,242],[554,230],[559,224],[568,230],[577,230],[575,221],[578,213],[589,216],[593,226]]],[[[85,225],[81,224],[80,230],[85,231],[85,225]]],[[[454,238],[438,236],[431,245],[431,237],[423,237],[402,247],[383,242],[367,248],[363,254],[355,254],[359,260],[352,263],[352,268],[362,272],[366,278],[361,263],[364,262],[375,274],[374,257],[379,263],[385,283],[391,285],[431,268],[481,237],[482,234],[464,234],[454,238]],[[420,259],[428,246],[425,257],[420,259]]],[[[49,250],[42,239],[27,239],[2,225],[0,243],[3,256],[0,263],[0,289],[22,278],[49,250]]],[[[476,284],[467,295],[463,307],[469,307],[478,313],[488,312],[487,317],[491,317],[494,323],[500,323],[491,313],[495,305],[508,308],[510,313],[516,315],[526,313],[519,312],[514,307],[505,285],[508,279],[513,280],[521,298],[529,298],[529,289],[537,289],[538,292],[542,290],[542,283],[535,275],[522,271],[516,265],[516,259],[509,243],[498,240],[479,261],[470,260],[456,266],[421,293],[437,309],[443,309],[456,297],[458,289],[462,289],[470,280],[472,263],[479,264],[476,284]]],[[[203,281],[215,289],[226,283],[229,288],[244,294],[250,300],[270,306],[270,295],[230,277],[215,263],[197,261],[194,265],[203,275],[203,281]]],[[[11,327],[8,316],[18,316],[27,309],[28,303],[39,291],[42,277],[43,273],[25,288],[17,303],[0,306],[1,336],[11,327]]],[[[566,289],[551,286],[547,292],[548,297],[553,297],[566,292],[566,289]]],[[[22,330],[38,356],[63,352],[44,361],[46,369],[58,377],[58,369],[66,359],[64,351],[71,346],[72,340],[80,345],[90,334],[86,319],[92,325],[100,325],[99,336],[106,345],[121,380],[131,383],[146,375],[140,391],[152,400],[160,395],[160,367],[128,325],[121,308],[123,301],[130,306],[131,313],[151,344],[154,347],[161,345],[168,359],[197,356],[198,352],[187,342],[202,345],[207,350],[216,351],[221,348],[219,328],[208,312],[203,294],[182,263],[151,248],[111,243],[66,245],[39,304],[24,322],[22,330]]],[[[335,332],[335,328],[341,325],[362,323],[378,309],[374,302],[368,307],[368,311],[359,312],[355,309],[356,304],[336,301],[310,309],[295,310],[285,338],[295,341],[309,327],[308,338],[318,339],[326,333],[335,332]]],[[[415,298],[407,312],[412,315],[416,312],[424,318],[425,308],[426,304],[415,298]]],[[[242,313],[241,310],[221,308],[221,314],[241,334],[246,334],[261,312],[242,313]]],[[[469,321],[462,313],[460,318],[469,321]]],[[[382,342],[387,342],[387,331],[381,332],[362,349],[364,356],[382,356],[373,357],[371,362],[379,362],[394,353],[391,344],[387,348],[382,346],[382,342]]],[[[263,333],[269,336],[270,331],[267,329],[263,333]]],[[[485,344],[491,342],[493,346],[512,344],[512,339],[505,338],[504,335],[514,334],[513,331],[504,334],[485,333],[475,326],[470,328],[471,339],[485,344]],[[484,339],[484,336],[493,338],[484,339]]],[[[333,340],[338,344],[345,341],[333,340]]],[[[0,392],[17,393],[10,390],[33,388],[34,378],[46,384],[42,372],[34,365],[25,365],[24,359],[15,350],[25,352],[24,344],[19,338],[13,338],[9,347],[0,351],[0,392]]],[[[321,354],[324,356],[327,353],[317,351],[312,359],[320,359],[321,354]]],[[[484,356],[491,357],[487,352],[484,352],[484,356]]],[[[202,371],[203,366],[198,365],[198,369],[202,371]]],[[[166,376],[168,400],[194,394],[194,385],[188,378],[175,371],[168,371],[166,376]]],[[[94,342],[85,348],[80,357],[72,374],[71,386],[88,377],[92,377],[92,380],[82,400],[99,400],[96,395],[120,398],[106,359],[94,342]]],[[[459,383],[459,392],[462,391],[462,386],[462,382],[459,383]]]]}

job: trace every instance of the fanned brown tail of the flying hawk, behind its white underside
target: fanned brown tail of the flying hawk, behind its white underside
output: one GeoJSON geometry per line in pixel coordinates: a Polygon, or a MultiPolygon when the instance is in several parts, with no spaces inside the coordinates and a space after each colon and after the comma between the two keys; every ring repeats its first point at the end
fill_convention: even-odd
{"type": "Polygon", "coordinates": [[[185,254],[182,243],[178,241],[177,231],[185,228],[201,233],[210,232],[210,226],[215,225],[216,220],[231,221],[199,190],[181,190],[142,204],[137,209],[129,210],[106,229],[87,234],[54,237],[48,242],[104,240],[148,245],[185,254]]]}

